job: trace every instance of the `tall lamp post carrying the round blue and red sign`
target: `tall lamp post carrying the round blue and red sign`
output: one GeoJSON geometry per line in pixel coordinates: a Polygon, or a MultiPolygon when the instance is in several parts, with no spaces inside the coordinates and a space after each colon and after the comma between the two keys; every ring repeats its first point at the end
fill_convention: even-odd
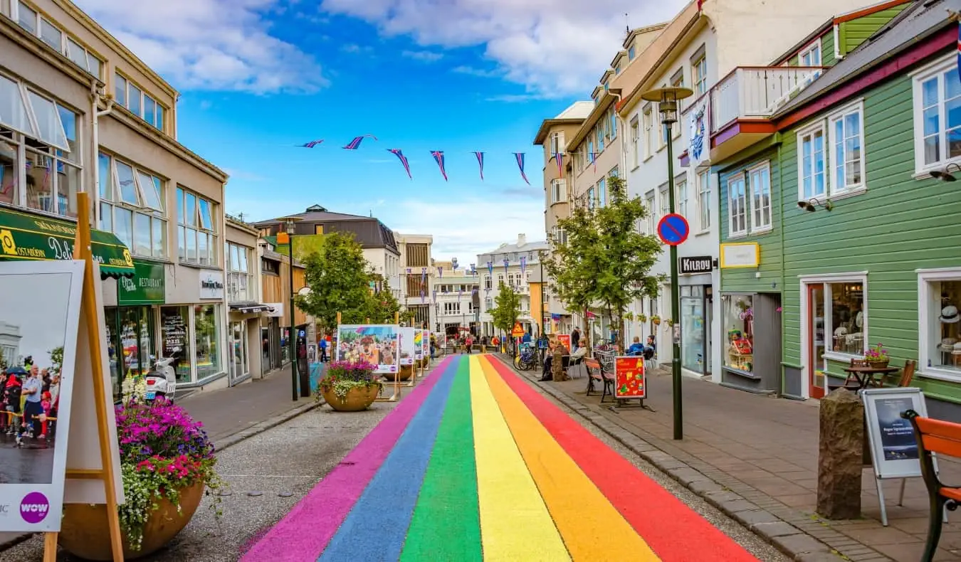
{"type": "MultiPolygon", "coordinates": [[[[678,122],[678,100],[691,97],[693,90],[686,87],[660,87],[641,94],[641,99],[657,102],[657,111],[661,114],[664,124],[664,136],[667,142],[667,192],[668,212],[675,212],[674,193],[674,139],[671,126],[678,122]]],[[[673,340],[674,357],[671,361],[671,379],[674,386],[674,438],[684,438],[683,401],[681,400],[680,378],[680,291],[678,290],[678,246],[671,246],[671,319],[674,320],[671,338],[673,340]]]]}

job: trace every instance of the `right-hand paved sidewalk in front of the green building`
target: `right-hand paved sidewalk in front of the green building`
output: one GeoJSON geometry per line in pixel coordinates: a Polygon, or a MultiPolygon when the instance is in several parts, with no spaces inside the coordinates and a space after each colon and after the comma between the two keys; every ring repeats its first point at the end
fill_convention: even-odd
{"type": "MultiPolygon", "coordinates": [[[[674,441],[671,376],[662,369],[648,376],[647,404],[654,411],[612,411],[610,402],[602,407],[600,396],[584,396],[583,377],[538,384],[798,560],[841,560],[836,554],[854,562],[921,559],[928,514],[921,478],[907,480],[900,507],[899,480],[885,483],[888,527],[879,521],[870,467],[862,478],[862,519],[827,521],[815,514],[817,401],[762,397],[684,378],[684,439],[674,441]]],[[[939,465],[947,481],[961,480],[961,464],[945,459],[939,465]]],[[[951,513],[949,521],[936,561],[961,559],[961,516],[951,513]]]]}

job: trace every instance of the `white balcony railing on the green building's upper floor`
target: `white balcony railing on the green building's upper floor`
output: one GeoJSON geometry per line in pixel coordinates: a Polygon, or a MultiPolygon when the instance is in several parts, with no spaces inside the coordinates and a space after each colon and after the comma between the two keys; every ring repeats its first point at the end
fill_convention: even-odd
{"type": "Polygon", "coordinates": [[[711,88],[711,132],[738,118],[769,117],[814,82],[820,66],[739,66],[711,88]]]}

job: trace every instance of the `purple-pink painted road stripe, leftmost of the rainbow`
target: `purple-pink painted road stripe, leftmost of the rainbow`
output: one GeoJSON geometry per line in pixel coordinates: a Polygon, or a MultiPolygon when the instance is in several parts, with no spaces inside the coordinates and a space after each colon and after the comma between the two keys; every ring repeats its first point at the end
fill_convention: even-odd
{"type": "Polygon", "coordinates": [[[431,393],[454,355],[448,355],[347,454],[241,562],[303,562],[316,560],[331,542],[367,484],[377,474],[407,424],[431,393]]]}

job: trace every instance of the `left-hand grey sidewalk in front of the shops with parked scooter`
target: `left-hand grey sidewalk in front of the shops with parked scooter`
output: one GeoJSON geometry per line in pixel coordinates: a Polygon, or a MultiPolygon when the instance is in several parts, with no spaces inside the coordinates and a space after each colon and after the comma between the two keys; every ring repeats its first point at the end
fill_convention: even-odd
{"type": "Polygon", "coordinates": [[[290,366],[275,369],[263,379],[237,386],[198,392],[177,401],[203,422],[214,446],[224,449],[254,433],[277,426],[321,403],[313,396],[291,400],[290,366]]]}

